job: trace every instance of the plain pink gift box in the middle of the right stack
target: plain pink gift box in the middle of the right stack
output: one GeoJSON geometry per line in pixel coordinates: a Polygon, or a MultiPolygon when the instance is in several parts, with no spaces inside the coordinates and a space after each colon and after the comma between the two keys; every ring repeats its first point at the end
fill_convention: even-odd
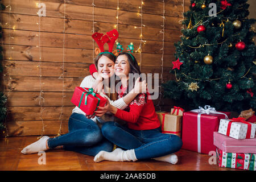
{"type": "Polygon", "coordinates": [[[256,136],[237,140],[218,132],[213,133],[213,144],[224,152],[256,154],[256,136]]]}

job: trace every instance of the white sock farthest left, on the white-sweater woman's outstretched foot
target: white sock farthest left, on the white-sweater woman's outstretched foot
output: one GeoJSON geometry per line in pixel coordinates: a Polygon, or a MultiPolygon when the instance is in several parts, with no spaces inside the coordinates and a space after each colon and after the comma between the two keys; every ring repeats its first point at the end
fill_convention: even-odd
{"type": "Polygon", "coordinates": [[[27,147],[23,148],[23,150],[21,151],[22,154],[33,154],[33,153],[38,153],[39,151],[46,151],[46,140],[49,137],[44,136],[42,138],[40,138],[38,141],[31,143],[30,145],[28,145],[27,147]]]}

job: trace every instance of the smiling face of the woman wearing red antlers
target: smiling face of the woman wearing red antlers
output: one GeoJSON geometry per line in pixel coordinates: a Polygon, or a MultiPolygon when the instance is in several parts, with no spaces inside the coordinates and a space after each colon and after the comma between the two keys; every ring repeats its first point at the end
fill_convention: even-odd
{"type": "Polygon", "coordinates": [[[98,60],[98,74],[102,78],[108,79],[114,75],[114,62],[106,56],[102,56],[98,60]]]}

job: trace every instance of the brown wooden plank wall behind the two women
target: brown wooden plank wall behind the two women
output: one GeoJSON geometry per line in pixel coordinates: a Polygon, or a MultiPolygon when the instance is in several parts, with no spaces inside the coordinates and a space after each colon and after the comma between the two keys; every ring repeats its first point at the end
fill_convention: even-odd
{"type": "MultiPolygon", "coordinates": [[[[89,75],[88,67],[93,63],[92,19],[94,18],[96,22],[95,31],[105,33],[112,30],[117,23],[117,0],[95,0],[94,17],[92,0],[67,0],[65,25],[63,0],[40,1],[46,4],[46,16],[40,18],[40,24],[37,14],[39,1],[3,0],[6,6],[9,2],[11,9],[7,7],[2,13],[5,76],[1,84],[1,89],[3,90],[4,86],[9,97],[8,134],[55,135],[60,126],[61,134],[67,133],[68,118],[74,107],[71,103],[73,90],[82,78],[89,75]],[[40,92],[41,90],[43,92],[40,92]],[[44,100],[39,104],[40,93],[44,100]],[[63,95],[65,97],[61,103],[63,95]],[[61,110],[63,115],[60,119],[61,110]]],[[[144,73],[160,74],[163,1],[143,2],[145,27],[142,28],[142,32],[146,44],[142,46],[141,69],[144,73]]],[[[174,60],[174,42],[177,42],[181,35],[179,21],[182,19],[182,3],[183,0],[165,1],[164,81],[172,78],[169,71],[172,67],[171,61],[174,60]]],[[[188,10],[189,4],[190,2],[185,0],[185,11],[188,10]]],[[[141,27],[139,6],[139,0],[119,0],[118,42],[122,42],[123,45],[133,42],[135,49],[141,41],[141,29],[135,28],[141,27]]],[[[140,60],[139,53],[135,53],[135,57],[140,60]]],[[[155,101],[155,104],[157,103],[158,101],[155,101]]],[[[171,105],[170,101],[161,101],[160,104],[167,107],[171,105]]]]}

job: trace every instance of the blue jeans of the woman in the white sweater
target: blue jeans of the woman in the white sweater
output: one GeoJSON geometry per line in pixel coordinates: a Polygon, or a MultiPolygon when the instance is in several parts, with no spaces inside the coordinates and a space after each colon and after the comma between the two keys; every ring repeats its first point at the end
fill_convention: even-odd
{"type": "Polygon", "coordinates": [[[112,151],[113,144],[104,138],[98,125],[85,115],[73,113],[68,121],[69,133],[48,139],[49,148],[63,146],[65,150],[95,156],[101,150],[112,151]]]}

